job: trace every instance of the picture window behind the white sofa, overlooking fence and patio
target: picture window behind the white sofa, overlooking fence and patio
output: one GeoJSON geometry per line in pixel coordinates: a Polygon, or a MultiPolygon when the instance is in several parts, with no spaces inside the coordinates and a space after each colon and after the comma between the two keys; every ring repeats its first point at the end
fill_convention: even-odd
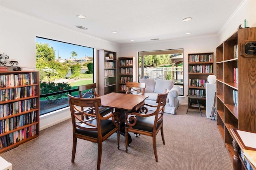
{"type": "Polygon", "coordinates": [[[174,80],[183,96],[183,49],[140,51],[138,78],[174,80]]]}

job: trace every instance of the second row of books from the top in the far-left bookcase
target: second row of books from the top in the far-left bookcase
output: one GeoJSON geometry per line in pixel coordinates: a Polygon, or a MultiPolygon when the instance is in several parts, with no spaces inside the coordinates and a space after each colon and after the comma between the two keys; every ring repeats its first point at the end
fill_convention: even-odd
{"type": "Polygon", "coordinates": [[[16,87],[0,90],[0,102],[36,96],[36,86],[16,87]]]}

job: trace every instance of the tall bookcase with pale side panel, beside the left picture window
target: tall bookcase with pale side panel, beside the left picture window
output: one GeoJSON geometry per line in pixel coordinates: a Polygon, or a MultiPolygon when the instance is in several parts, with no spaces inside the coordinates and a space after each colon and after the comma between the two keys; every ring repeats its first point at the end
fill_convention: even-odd
{"type": "Polygon", "coordinates": [[[116,52],[98,50],[98,94],[116,92],[116,52]]]}

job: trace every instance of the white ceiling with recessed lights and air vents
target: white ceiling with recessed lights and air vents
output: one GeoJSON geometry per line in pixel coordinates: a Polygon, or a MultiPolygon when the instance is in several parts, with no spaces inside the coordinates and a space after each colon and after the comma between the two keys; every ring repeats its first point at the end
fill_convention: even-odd
{"type": "Polygon", "coordinates": [[[117,44],[216,35],[243,0],[0,0],[0,6],[117,44]],[[86,19],[79,19],[82,14],[86,19]],[[191,21],[184,22],[184,18],[191,21]],[[82,30],[76,25],[88,28],[82,30]],[[117,31],[114,34],[111,31],[117,31]],[[191,32],[190,35],[186,35],[191,32]],[[133,39],[134,41],[130,41],[133,39]]]}

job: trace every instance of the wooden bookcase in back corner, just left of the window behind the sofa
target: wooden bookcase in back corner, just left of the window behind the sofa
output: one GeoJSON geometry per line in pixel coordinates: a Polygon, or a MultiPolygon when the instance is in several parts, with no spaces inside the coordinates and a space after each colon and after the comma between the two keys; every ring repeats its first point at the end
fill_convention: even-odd
{"type": "Polygon", "coordinates": [[[118,58],[118,92],[126,92],[126,82],[134,82],[136,75],[135,57],[119,57],[118,58]]]}

